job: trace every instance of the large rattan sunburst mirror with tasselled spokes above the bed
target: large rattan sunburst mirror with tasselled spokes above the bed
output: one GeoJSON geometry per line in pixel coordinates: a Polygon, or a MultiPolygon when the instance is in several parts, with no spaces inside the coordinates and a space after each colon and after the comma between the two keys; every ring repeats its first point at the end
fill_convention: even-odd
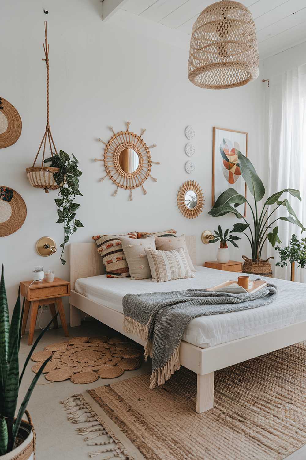
{"type": "Polygon", "coordinates": [[[132,190],[138,187],[142,187],[144,194],[147,194],[144,188],[147,178],[157,181],[150,173],[152,164],[159,165],[160,162],[151,160],[150,149],[156,144],[147,146],[142,138],[146,130],[143,129],[138,135],[128,130],[129,125],[128,121],[126,131],[117,133],[110,127],[112,138],[107,143],[99,139],[105,144],[104,157],[95,158],[95,161],[104,161],[106,176],[101,178],[101,182],[108,176],[117,185],[112,196],[116,196],[118,189],[122,188],[130,190],[130,200],[133,200],[132,190]]]}

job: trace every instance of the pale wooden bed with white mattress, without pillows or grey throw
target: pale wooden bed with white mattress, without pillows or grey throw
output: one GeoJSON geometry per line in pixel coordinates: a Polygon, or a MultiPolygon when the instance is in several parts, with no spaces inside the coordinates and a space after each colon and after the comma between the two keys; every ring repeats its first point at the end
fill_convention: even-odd
{"type": "MultiPolygon", "coordinates": [[[[195,236],[186,237],[195,264],[195,236]]],[[[154,283],[151,280],[106,278],[95,243],[70,245],[70,325],[80,324],[81,311],[144,345],[122,328],[122,298],[127,293],[208,288],[237,273],[195,267],[195,278],[154,283]]],[[[214,371],[306,339],[306,285],[271,279],[278,299],[265,307],[196,318],[186,328],[180,363],[197,374],[198,413],[213,407],[214,371]]]]}

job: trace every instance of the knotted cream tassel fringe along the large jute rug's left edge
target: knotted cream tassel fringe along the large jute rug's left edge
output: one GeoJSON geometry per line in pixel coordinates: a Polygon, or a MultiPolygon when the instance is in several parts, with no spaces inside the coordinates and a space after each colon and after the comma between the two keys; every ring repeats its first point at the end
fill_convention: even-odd
{"type": "Polygon", "coordinates": [[[61,404],[63,404],[64,409],[67,411],[68,420],[72,423],[83,424],[81,428],[76,429],[78,434],[83,436],[83,441],[88,446],[100,446],[99,450],[88,452],[90,458],[109,453],[109,455],[101,457],[101,460],[133,460],[133,457],[128,454],[125,447],[116,439],[108,426],[102,425],[98,415],[82,395],[73,395],[61,401],[61,404]],[[94,440],[98,437],[101,437],[100,440],[94,440]]]}

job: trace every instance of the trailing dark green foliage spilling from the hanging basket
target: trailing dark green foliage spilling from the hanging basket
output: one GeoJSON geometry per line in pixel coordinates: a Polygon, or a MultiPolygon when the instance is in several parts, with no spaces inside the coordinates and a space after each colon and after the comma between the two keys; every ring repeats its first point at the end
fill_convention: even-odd
{"type": "Polygon", "coordinates": [[[56,202],[58,219],[57,224],[64,224],[64,241],[61,243],[61,263],[66,264],[66,260],[63,259],[63,253],[65,244],[69,241],[69,237],[75,233],[79,227],[83,227],[82,222],[75,218],[76,211],[80,206],[79,203],[75,203],[75,196],[83,196],[78,190],[78,177],[82,175],[82,172],[78,169],[78,160],[72,154],[72,158],[60,150],[60,155],[53,155],[47,158],[44,163],[51,163],[50,167],[59,168],[59,173],[54,173],[56,184],[59,186],[58,196],[54,200],[56,202]]]}

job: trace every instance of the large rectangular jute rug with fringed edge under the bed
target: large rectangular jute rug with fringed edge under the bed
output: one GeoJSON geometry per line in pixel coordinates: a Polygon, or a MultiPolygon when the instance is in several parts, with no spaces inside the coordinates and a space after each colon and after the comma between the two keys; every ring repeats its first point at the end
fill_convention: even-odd
{"type": "Polygon", "coordinates": [[[63,401],[100,459],[284,459],[306,443],[306,342],[215,373],[214,408],[195,412],[196,375],[150,374],[63,401]]]}

